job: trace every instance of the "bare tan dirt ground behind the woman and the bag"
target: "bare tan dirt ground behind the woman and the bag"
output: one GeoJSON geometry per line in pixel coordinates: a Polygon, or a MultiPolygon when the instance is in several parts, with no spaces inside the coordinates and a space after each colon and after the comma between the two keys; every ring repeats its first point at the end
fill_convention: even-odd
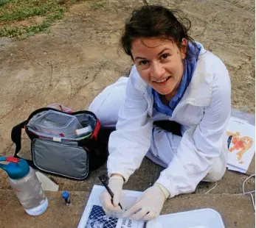
{"type": "MultiPolygon", "coordinates": [[[[10,131],[33,110],[55,101],[75,109],[88,107],[131,66],[118,42],[125,18],[142,3],[111,0],[91,7],[92,2],[76,4],[48,33],[0,39],[0,154],[13,154],[10,131]]],[[[193,24],[192,37],[229,69],[233,107],[255,113],[254,1],[157,2],[184,11],[193,24]]],[[[29,141],[23,140],[22,146],[23,154],[29,154],[29,141]]],[[[71,188],[66,180],[61,185],[71,188]]],[[[0,188],[7,188],[5,176],[0,188]]]]}

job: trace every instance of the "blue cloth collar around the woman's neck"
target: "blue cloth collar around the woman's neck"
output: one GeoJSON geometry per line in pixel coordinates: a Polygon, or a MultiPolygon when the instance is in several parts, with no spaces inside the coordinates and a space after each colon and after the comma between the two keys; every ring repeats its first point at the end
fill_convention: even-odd
{"type": "Polygon", "coordinates": [[[195,56],[195,46],[193,46],[192,43],[188,43],[188,50],[190,53],[193,54],[193,57],[190,60],[184,60],[184,72],[181,79],[181,82],[179,84],[179,89],[176,93],[176,95],[173,97],[173,99],[170,100],[169,106],[165,105],[161,101],[161,95],[156,92],[156,90],[152,89],[153,93],[153,107],[156,109],[159,113],[164,113],[165,115],[172,116],[173,110],[179,104],[179,101],[181,100],[182,96],[184,95],[187,86],[190,85],[191,79],[193,77],[193,73],[196,69],[196,63],[198,60],[198,53],[201,50],[201,45],[196,44],[196,48],[198,51],[196,52],[195,56]]]}

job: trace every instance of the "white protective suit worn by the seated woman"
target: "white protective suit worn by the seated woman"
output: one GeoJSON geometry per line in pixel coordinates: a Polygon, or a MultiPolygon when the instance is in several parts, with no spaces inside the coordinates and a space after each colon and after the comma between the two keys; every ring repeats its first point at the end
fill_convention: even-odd
{"type": "Polygon", "coordinates": [[[173,197],[193,192],[203,179],[221,179],[226,171],[230,79],[224,63],[203,47],[190,85],[171,117],[153,108],[151,88],[135,65],[128,78],[105,88],[89,110],[103,126],[117,124],[108,143],[109,176],[121,174],[127,182],[146,155],[165,167],[156,182],[173,197]],[[182,137],[153,125],[168,119],[181,124],[182,137]]]}

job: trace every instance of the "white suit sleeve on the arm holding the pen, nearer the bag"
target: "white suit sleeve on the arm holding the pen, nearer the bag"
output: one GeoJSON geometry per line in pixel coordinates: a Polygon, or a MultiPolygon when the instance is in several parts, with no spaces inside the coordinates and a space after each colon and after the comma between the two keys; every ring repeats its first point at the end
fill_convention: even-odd
{"type": "MultiPolygon", "coordinates": [[[[135,68],[131,74],[137,74],[135,68]]],[[[148,101],[133,85],[131,74],[125,101],[120,107],[117,129],[108,141],[108,176],[121,174],[125,182],[139,168],[151,146],[153,120],[148,116],[148,101]]],[[[117,94],[118,96],[118,94],[117,94]]]]}

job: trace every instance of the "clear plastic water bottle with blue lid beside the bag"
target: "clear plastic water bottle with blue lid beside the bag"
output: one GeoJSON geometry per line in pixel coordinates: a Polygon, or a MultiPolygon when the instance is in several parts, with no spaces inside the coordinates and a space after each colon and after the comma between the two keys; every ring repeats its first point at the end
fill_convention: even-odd
{"type": "Polygon", "coordinates": [[[41,215],[48,207],[48,199],[41,183],[35,174],[35,170],[23,159],[15,157],[0,157],[0,168],[8,174],[10,186],[18,196],[21,205],[29,215],[41,215]]]}

